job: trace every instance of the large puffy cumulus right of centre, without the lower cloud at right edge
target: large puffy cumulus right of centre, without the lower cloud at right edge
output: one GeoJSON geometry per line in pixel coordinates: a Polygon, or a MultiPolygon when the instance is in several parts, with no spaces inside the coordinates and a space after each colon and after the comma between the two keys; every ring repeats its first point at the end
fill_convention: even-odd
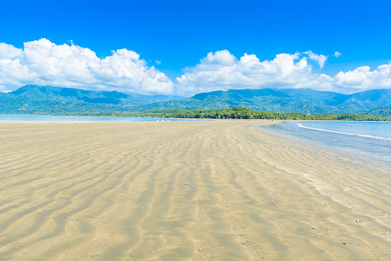
{"type": "Polygon", "coordinates": [[[186,94],[230,88],[332,89],[329,76],[313,74],[311,69],[307,57],[300,53],[282,53],[271,61],[260,61],[254,54],[245,53],[237,59],[228,50],[222,50],[208,53],[194,67],[186,67],[184,74],[176,78],[176,90],[186,94]]]}

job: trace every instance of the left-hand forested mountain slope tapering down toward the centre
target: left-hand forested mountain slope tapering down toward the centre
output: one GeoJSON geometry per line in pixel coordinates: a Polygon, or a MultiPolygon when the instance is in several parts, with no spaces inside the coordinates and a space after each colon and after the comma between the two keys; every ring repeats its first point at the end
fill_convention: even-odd
{"type": "Polygon", "coordinates": [[[0,92],[0,114],[140,111],[144,105],[169,101],[178,97],[180,96],[148,96],[138,93],[129,95],[118,91],[26,85],[11,92],[0,92]]]}

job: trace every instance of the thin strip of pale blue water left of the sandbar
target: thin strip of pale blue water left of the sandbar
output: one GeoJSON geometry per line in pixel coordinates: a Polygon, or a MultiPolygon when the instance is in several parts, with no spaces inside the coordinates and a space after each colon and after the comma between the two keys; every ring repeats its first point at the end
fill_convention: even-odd
{"type": "MultiPolygon", "coordinates": [[[[197,119],[198,120],[198,119],[197,119]]],[[[0,121],[196,121],[195,119],[0,115],[0,121]]]]}

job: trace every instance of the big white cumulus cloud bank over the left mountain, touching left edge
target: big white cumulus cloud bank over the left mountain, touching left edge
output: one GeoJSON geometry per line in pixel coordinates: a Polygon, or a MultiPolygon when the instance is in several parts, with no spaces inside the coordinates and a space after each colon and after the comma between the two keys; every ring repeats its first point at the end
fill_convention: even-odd
{"type": "Polygon", "coordinates": [[[22,49],[0,43],[0,90],[37,84],[146,94],[173,92],[174,83],[131,50],[118,49],[101,59],[90,49],[70,43],[57,45],[40,39],[24,43],[22,49]]]}

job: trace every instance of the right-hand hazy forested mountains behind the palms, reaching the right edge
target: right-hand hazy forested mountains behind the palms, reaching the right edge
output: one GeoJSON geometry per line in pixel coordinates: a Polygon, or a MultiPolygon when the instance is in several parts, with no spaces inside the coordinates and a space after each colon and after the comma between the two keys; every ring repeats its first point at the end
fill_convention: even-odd
{"type": "MultiPolygon", "coordinates": [[[[245,107],[258,111],[301,113],[366,113],[391,106],[391,89],[353,94],[312,89],[231,89],[199,93],[180,101],[154,103],[145,109],[222,109],[245,107]]],[[[379,112],[377,115],[381,115],[379,112]]]]}

